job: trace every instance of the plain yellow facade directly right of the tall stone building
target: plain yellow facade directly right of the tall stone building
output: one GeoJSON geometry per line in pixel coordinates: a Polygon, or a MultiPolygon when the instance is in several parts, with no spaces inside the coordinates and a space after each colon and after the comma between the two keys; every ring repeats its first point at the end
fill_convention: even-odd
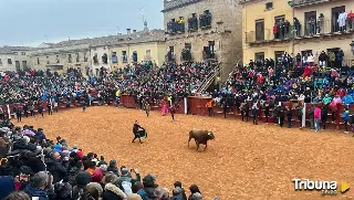
{"type": "Polygon", "coordinates": [[[241,0],[243,23],[243,64],[250,60],[277,60],[293,52],[292,34],[275,38],[273,27],[281,20],[293,21],[293,10],[287,0],[241,0]]]}

